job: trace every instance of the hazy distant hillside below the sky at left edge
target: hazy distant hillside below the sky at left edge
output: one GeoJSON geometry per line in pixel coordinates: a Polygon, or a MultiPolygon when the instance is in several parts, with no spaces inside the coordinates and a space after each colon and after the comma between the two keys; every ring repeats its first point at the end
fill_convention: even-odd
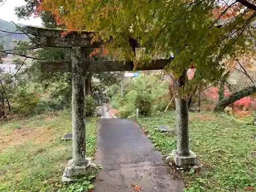
{"type": "MultiPolygon", "coordinates": [[[[24,26],[22,24],[17,24],[17,25],[24,26]]],[[[10,22],[6,22],[3,19],[0,19],[0,30],[14,32],[16,30],[16,27],[14,24],[12,24],[10,22]]],[[[17,32],[19,32],[19,31],[17,31],[17,32]]],[[[21,34],[7,35],[7,34],[8,33],[0,31],[0,41],[3,42],[5,50],[13,48],[13,46],[14,46],[14,44],[12,42],[13,40],[28,40],[28,37],[26,35],[21,35],[21,34]],[[4,36],[4,35],[7,35],[7,36],[4,36]]]]}

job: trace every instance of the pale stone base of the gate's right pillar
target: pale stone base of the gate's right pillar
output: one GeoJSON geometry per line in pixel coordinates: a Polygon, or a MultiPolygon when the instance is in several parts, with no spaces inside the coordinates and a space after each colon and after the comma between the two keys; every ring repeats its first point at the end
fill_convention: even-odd
{"type": "Polygon", "coordinates": [[[176,150],[174,150],[166,159],[169,162],[173,161],[175,165],[179,167],[194,166],[197,164],[197,155],[192,151],[190,151],[188,156],[182,156],[176,150]]]}

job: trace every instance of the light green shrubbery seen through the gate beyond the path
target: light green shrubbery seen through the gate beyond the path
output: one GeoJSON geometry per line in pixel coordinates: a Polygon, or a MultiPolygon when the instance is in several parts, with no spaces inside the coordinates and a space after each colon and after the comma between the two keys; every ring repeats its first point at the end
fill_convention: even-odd
{"type": "Polygon", "coordinates": [[[128,81],[123,88],[123,97],[117,86],[110,89],[110,95],[112,107],[125,118],[135,117],[137,108],[144,115],[163,111],[170,100],[167,83],[154,76],[139,76],[128,81]]]}

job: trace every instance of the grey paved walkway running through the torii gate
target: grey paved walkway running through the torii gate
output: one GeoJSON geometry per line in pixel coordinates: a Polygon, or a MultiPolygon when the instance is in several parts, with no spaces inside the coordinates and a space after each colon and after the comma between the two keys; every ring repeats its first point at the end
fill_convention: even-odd
{"type": "Polygon", "coordinates": [[[95,162],[103,167],[94,183],[95,192],[182,192],[181,180],[167,172],[162,154],[153,150],[132,119],[100,119],[95,162]]]}

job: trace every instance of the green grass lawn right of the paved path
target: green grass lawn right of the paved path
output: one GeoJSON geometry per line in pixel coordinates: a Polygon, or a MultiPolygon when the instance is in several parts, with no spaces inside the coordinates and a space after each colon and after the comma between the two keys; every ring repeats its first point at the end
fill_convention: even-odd
{"type": "MultiPolygon", "coordinates": [[[[163,154],[177,148],[176,136],[166,136],[157,129],[160,124],[176,127],[175,112],[143,117],[138,123],[163,154]]],[[[193,169],[182,173],[186,191],[256,191],[255,126],[231,116],[190,113],[189,136],[190,148],[204,168],[200,173],[193,169]]]]}

